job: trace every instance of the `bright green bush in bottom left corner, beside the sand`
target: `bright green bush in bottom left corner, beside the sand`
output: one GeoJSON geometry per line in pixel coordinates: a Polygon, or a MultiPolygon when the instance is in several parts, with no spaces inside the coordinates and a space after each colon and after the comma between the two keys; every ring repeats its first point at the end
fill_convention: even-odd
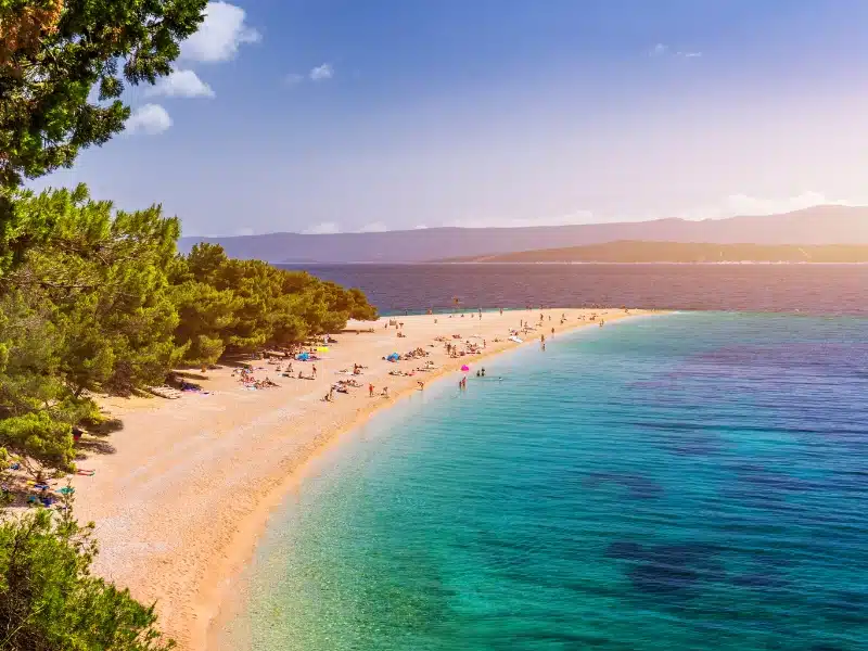
{"type": "Polygon", "coordinates": [[[165,651],[153,607],[90,574],[93,525],[72,502],[0,513],[0,651],[165,651]]]}

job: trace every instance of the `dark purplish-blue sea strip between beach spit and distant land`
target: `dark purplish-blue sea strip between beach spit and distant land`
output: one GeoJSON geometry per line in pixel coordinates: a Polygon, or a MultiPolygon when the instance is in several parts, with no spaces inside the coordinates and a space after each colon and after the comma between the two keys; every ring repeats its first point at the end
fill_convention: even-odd
{"type": "Polygon", "coordinates": [[[868,315],[868,265],[320,265],[384,312],[608,305],[868,315]]]}

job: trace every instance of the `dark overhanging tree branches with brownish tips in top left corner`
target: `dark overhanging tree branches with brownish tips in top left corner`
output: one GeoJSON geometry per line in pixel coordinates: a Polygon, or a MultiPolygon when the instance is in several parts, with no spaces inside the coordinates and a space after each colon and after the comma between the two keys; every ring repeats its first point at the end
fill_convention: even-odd
{"type": "Polygon", "coordinates": [[[171,72],[206,0],[3,0],[0,187],[71,166],[124,129],[125,82],[171,72]],[[99,101],[91,90],[99,90],[99,101]]]}

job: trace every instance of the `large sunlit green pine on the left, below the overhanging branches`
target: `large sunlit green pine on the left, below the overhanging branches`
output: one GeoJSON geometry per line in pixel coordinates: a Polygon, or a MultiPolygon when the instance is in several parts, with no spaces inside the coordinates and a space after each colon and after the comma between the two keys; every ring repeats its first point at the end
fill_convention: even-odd
{"type": "Polygon", "coordinates": [[[158,206],[113,212],[84,187],[22,193],[16,212],[23,229],[29,221],[30,232],[48,231],[0,280],[0,291],[16,296],[18,314],[27,315],[27,329],[36,323],[43,333],[38,342],[20,337],[36,348],[29,357],[39,363],[30,368],[75,396],[162,382],[182,354],[171,342],[178,314],[166,275],[178,220],[158,206]]]}

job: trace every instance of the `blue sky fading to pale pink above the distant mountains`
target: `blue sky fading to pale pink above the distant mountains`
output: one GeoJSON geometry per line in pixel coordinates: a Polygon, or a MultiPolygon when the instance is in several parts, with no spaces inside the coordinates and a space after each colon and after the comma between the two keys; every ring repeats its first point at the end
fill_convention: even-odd
{"type": "Polygon", "coordinates": [[[868,204],[864,0],[210,2],[127,129],[36,189],[187,235],[868,204]]]}

